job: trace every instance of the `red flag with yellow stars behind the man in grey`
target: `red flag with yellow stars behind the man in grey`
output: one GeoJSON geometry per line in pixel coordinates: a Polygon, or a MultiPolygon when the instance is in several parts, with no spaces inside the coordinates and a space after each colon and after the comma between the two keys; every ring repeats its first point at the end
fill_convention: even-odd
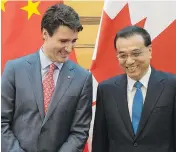
{"type": "MultiPolygon", "coordinates": [[[[40,30],[44,12],[63,1],[1,1],[2,65],[7,60],[31,54],[40,49],[43,40],[40,30]]],[[[70,58],[77,62],[75,52],[70,58]]]]}

